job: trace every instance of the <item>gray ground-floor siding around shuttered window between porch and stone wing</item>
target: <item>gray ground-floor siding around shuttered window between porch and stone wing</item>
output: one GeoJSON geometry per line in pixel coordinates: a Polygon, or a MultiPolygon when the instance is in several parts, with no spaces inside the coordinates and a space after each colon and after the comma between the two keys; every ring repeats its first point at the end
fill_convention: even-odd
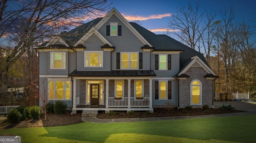
{"type": "Polygon", "coordinates": [[[169,100],[158,100],[155,99],[155,81],[152,81],[152,105],[153,106],[166,106],[166,102],[170,101],[174,105],[177,105],[178,101],[178,80],[168,80],[172,82],[172,99],[169,100]]]}

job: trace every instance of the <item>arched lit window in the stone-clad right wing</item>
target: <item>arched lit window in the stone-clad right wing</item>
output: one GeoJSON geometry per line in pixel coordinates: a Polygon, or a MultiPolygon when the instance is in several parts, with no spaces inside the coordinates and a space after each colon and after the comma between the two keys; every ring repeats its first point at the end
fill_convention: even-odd
{"type": "Polygon", "coordinates": [[[193,80],[190,84],[190,104],[202,105],[202,83],[200,80],[193,80]]]}

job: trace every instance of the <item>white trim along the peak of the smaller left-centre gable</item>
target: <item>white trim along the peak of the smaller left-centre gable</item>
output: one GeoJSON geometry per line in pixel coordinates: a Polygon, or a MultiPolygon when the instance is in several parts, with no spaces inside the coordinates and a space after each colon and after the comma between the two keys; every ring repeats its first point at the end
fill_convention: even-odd
{"type": "Polygon", "coordinates": [[[81,39],[76,42],[74,47],[76,47],[79,44],[83,44],[92,34],[95,34],[104,44],[108,44],[113,47],[113,45],[106,39],[104,38],[98,30],[96,30],[94,27],[92,27],[81,39]]]}

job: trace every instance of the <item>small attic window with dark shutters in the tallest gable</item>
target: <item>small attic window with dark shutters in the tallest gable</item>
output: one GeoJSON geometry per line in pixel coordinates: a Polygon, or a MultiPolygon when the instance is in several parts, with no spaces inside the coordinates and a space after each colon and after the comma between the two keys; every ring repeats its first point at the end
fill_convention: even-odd
{"type": "Polygon", "coordinates": [[[107,36],[121,36],[122,35],[122,25],[118,25],[118,22],[110,22],[110,25],[106,26],[107,36]]]}

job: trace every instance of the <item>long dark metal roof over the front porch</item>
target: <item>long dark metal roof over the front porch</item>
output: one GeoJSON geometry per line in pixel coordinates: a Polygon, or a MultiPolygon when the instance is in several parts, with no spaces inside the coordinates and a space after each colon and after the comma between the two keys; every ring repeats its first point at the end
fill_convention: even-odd
{"type": "Polygon", "coordinates": [[[156,76],[153,70],[73,71],[68,76],[156,76]]]}

